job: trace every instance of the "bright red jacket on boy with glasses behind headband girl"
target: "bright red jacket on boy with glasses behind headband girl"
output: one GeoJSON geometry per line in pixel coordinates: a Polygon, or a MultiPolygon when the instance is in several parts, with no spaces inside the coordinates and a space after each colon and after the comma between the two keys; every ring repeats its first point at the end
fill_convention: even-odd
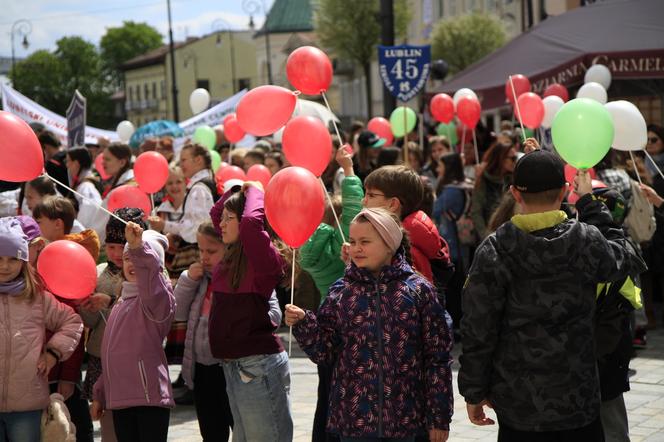
{"type": "Polygon", "coordinates": [[[449,265],[450,251],[445,240],[438,233],[436,225],[426,213],[418,210],[403,220],[403,227],[408,232],[411,255],[415,270],[433,283],[433,272],[429,260],[440,259],[449,265]]]}

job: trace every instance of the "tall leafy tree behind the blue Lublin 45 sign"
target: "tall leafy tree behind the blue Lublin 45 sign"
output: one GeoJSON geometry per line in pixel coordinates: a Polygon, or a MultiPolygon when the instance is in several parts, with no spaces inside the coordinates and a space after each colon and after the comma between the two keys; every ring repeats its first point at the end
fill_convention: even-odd
{"type": "MultiPolygon", "coordinates": [[[[367,90],[367,112],[371,113],[371,60],[380,44],[379,0],[318,0],[314,23],[322,46],[362,67],[367,90]]],[[[407,0],[394,2],[397,38],[406,34],[409,21],[407,0]]]]}

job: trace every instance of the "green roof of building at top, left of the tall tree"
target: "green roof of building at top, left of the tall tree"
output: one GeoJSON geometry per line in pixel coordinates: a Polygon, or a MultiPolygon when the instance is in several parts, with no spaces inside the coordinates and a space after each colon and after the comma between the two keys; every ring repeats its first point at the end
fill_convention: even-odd
{"type": "Polygon", "coordinates": [[[263,27],[255,37],[282,32],[306,32],[314,30],[310,0],[275,0],[263,27]]]}

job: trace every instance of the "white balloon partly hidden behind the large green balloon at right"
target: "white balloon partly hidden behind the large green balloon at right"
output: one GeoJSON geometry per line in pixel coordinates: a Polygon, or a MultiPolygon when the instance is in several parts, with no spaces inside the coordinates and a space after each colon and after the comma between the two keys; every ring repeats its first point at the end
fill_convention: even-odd
{"type": "Polygon", "coordinates": [[[612,101],[604,105],[613,118],[613,148],[618,150],[641,150],[648,141],[646,120],[639,108],[629,101],[612,101]]]}

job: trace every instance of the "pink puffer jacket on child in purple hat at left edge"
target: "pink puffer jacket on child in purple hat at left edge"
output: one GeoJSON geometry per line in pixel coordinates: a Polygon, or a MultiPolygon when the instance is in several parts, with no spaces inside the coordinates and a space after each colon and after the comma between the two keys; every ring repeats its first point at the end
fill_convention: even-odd
{"type": "Polygon", "coordinates": [[[0,323],[0,412],[46,408],[48,382],[37,374],[37,362],[44,348],[67,360],[81,339],[81,318],[48,292],[31,303],[3,293],[0,323]],[[54,332],[48,341],[46,329],[54,332]]]}

